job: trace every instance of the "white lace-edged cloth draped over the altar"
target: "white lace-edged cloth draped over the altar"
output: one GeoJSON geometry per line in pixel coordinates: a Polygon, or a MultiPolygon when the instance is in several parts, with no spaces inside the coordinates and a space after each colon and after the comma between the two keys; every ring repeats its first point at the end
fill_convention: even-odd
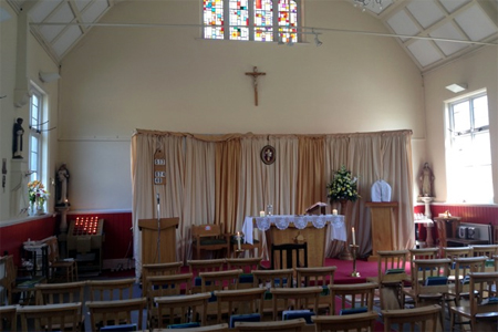
{"type": "Polygon", "coordinates": [[[346,240],[346,230],[344,226],[344,216],[342,215],[311,215],[311,216],[286,216],[286,215],[277,215],[277,216],[266,216],[266,217],[246,217],[243,219],[242,232],[243,232],[243,241],[246,243],[253,243],[252,230],[253,230],[253,221],[256,221],[256,227],[260,230],[268,230],[271,224],[278,229],[286,229],[289,227],[289,224],[293,224],[295,228],[303,229],[308,226],[309,222],[313,224],[315,228],[323,228],[326,224],[330,224],[330,239],[331,240],[346,240]]]}

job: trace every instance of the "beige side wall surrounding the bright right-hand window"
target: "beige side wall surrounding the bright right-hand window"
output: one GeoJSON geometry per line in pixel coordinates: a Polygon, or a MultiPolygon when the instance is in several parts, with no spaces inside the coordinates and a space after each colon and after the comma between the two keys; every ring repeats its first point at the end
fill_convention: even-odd
{"type": "MultiPolygon", "coordinates": [[[[486,89],[492,164],[498,165],[498,48],[488,46],[424,75],[427,118],[427,162],[435,176],[435,201],[446,201],[445,101],[486,89]],[[467,83],[455,94],[445,89],[452,83],[467,83]]],[[[417,169],[415,169],[416,172],[417,169]]],[[[498,203],[498,167],[494,167],[495,204],[498,203]]]]}

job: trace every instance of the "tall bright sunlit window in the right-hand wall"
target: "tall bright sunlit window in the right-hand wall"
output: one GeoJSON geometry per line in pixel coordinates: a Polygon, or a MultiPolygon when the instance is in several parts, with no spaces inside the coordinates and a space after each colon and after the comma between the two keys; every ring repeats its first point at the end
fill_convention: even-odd
{"type": "Polygon", "coordinates": [[[492,203],[492,165],[486,92],[447,104],[448,201],[492,203]]]}

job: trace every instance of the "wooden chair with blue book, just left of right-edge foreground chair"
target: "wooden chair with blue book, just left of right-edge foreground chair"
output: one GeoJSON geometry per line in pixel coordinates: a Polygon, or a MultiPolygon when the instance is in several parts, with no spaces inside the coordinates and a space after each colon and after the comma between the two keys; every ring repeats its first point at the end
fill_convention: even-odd
{"type": "Polygon", "coordinates": [[[403,307],[406,302],[406,297],[409,297],[415,307],[427,304],[439,304],[440,324],[444,323],[445,301],[449,292],[448,276],[452,260],[449,258],[439,259],[416,259],[414,261],[415,273],[418,273],[418,279],[412,281],[409,288],[403,289],[403,307]]]}

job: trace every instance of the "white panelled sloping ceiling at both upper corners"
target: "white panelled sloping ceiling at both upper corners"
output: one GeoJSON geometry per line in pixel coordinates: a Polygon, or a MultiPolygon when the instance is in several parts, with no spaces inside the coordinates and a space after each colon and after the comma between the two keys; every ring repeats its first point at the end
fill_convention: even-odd
{"type": "MultiPolygon", "coordinates": [[[[60,62],[92,29],[91,24],[121,0],[9,1],[28,13],[32,33],[60,62]]],[[[364,1],[366,12],[396,35],[423,72],[477,48],[497,46],[498,0],[381,0],[382,7],[380,0],[364,1]]]]}

